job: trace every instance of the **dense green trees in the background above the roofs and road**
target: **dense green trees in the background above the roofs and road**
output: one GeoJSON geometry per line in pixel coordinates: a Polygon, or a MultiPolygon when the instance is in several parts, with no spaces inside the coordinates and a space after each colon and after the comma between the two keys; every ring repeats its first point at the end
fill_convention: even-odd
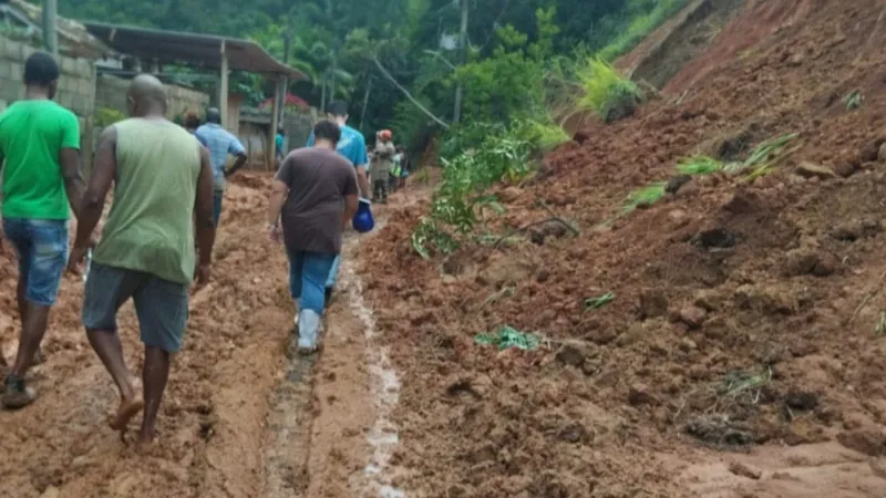
{"type": "MultiPolygon", "coordinates": [[[[418,144],[429,124],[442,126],[391,80],[443,123],[453,120],[459,81],[466,86],[465,122],[538,113],[550,100],[545,77],[562,73],[552,71],[550,61],[575,59],[577,49],[612,60],[683,3],[468,0],[466,65],[456,48],[459,0],[66,0],[59,6],[62,15],[75,19],[250,38],[279,59],[288,37],[292,65],[310,77],[293,84],[293,93],[318,107],[333,95],[344,97],[365,133],[394,127],[418,144]]],[[[270,90],[245,75],[237,83],[254,103],[270,90]]]]}

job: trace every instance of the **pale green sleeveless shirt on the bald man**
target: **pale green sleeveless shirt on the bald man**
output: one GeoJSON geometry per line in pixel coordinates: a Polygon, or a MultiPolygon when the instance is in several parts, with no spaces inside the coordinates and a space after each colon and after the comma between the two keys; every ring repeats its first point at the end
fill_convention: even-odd
{"type": "Polygon", "coordinates": [[[94,260],[190,283],[200,145],[163,120],[130,118],[114,128],[114,200],[94,260]]]}

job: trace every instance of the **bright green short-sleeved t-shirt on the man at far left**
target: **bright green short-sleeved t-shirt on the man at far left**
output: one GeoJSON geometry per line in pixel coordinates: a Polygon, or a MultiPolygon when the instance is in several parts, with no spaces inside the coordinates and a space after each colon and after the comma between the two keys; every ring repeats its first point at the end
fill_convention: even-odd
{"type": "Polygon", "coordinates": [[[0,114],[3,217],[68,219],[59,164],[62,148],[80,149],[76,116],[52,101],[19,101],[0,114]]]}

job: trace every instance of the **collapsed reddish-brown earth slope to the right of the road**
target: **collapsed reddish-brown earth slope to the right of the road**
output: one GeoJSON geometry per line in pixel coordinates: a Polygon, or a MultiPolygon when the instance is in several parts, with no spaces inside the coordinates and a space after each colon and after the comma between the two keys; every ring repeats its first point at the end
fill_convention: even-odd
{"type": "MultiPolygon", "coordinates": [[[[714,450],[827,443],[882,456],[884,15],[875,0],[749,1],[677,74],[679,94],[587,127],[534,181],[497,189],[499,234],[554,212],[576,237],[425,261],[410,232],[427,206],[394,209],[361,257],[402,372],[400,484],[416,496],[688,496],[680,470],[714,450]],[[854,91],[864,101],[848,110],[854,91]],[[679,157],[744,158],[784,133],[797,147],[776,173],[696,177],[602,224],[679,157]],[[546,341],[474,343],[503,324],[546,341]]],[[[750,496],[886,496],[853,471],[775,473],[781,487],[750,496]]]]}

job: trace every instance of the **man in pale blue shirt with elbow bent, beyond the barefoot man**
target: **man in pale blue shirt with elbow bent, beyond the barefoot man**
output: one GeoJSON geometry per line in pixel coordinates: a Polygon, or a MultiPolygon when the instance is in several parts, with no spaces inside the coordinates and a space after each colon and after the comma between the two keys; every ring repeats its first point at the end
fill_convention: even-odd
{"type": "Polygon", "coordinates": [[[206,111],[206,124],[197,128],[194,134],[204,147],[209,149],[209,163],[213,165],[215,180],[215,194],[213,195],[213,219],[218,226],[222,217],[222,199],[227,188],[227,177],[234,175],[237,169],[246,164],[246,149],[236,136],[222,127],[222,113],[210,107],[206,111]],[[234,165],[225,169],[228,154],[237,157],[234,165]]]}

